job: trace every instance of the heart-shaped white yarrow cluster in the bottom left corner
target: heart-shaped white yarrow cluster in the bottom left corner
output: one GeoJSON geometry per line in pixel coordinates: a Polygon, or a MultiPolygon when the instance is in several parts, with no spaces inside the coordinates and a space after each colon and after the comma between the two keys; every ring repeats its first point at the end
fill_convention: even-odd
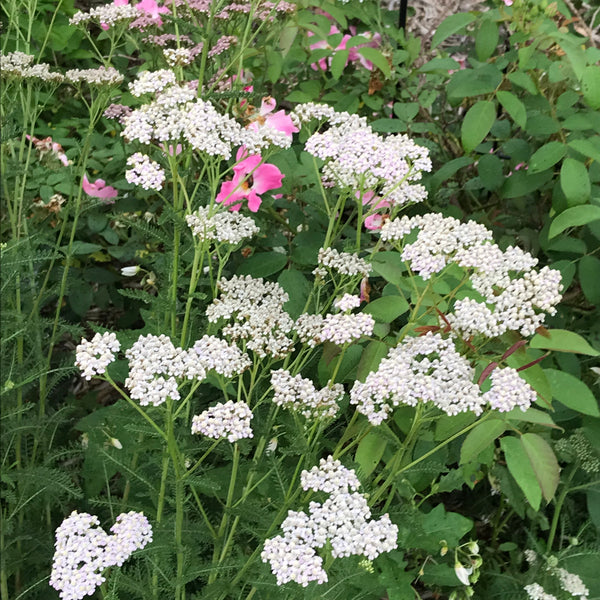
{"type": "Polygon", "coordinates": [[[106,579],[107,567],[121,566],[135,550],[152,541],[152,528],[142,513],[117,517],[108,535],[98,517],[73,511],[56,530],[50,586],[62,600],[94,594],[106,579]]]}

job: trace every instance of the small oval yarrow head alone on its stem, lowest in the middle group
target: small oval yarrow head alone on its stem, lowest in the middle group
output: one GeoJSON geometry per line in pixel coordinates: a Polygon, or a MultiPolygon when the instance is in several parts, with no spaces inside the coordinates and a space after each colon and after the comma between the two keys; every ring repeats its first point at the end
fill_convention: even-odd
{"type": "Polygon", "coordinates": [[[219,402],[194,416],[192,433],[201,433],[215,440],[226,437],[231,443],[237,442],[253,437],[250,427],[253,416],[245,402],[219,402]]]}

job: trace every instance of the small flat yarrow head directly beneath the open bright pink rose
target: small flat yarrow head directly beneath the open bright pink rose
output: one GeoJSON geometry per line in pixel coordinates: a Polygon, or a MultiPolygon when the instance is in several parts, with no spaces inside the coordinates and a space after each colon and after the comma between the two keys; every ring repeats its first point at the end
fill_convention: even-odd
{"type": "Polygon", "coordinates": [[[185,220],[201,242],[214,240],[235,245],[260,231],[251,217],[230,211],[211,215],[209,207],[200,207],[195,213],[187,215],[185,220]]]}

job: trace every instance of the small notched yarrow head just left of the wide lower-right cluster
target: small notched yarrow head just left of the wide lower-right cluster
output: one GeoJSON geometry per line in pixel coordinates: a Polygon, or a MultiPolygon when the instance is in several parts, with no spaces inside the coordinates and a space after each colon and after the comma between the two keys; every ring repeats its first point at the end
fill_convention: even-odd
{"type": "Polygon", "coordinates": [[[335,417],[338,402],[344,395],[344,386],[340,383],[317,390],[310,379],[292,376],[284,369],[271,371],[271,386],[275,404],[299,412],[307,419],[335,417]]]}

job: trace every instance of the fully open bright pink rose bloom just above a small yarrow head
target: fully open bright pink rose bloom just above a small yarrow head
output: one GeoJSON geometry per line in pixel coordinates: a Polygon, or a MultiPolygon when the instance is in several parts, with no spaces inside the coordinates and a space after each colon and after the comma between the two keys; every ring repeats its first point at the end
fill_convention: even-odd
{"type": "Polygon", "coordinates": [[[261,194],[281,187],[284,175],[272,164],[262,163],[260,154],[248,154],[243,146],[238,150],[236,159],[239,161],[234,167],[234,176],[231,181],[224,181],[221,190],[215,198],[229,206],[229,210],[238,211],[242,207],[242,200],[248,200],[248,208],[257,212],[262,199],[261,194]]]}

